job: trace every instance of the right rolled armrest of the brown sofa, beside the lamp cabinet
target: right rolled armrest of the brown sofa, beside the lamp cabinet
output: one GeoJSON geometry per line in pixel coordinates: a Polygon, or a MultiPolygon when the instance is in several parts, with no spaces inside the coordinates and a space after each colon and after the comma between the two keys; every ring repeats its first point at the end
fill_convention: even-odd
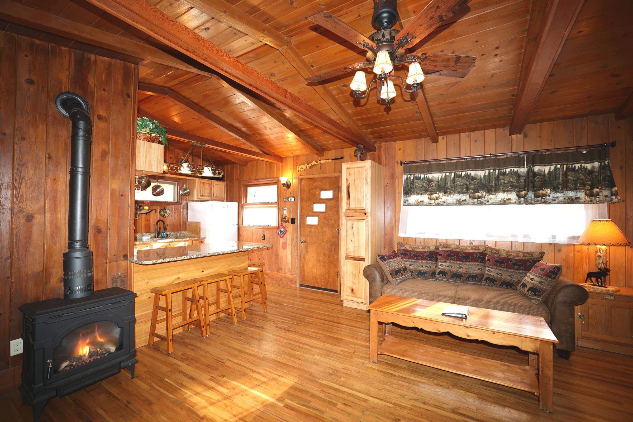
{"type": "Polygon", "coordinates": [[[578,283],[561,275],[548,297],[545,306],[551,314],[552,332],[558,338],[556,349],[573,352],[576,349],[576,325],[574,306],[589,300],[587,290],[578,283]]]}

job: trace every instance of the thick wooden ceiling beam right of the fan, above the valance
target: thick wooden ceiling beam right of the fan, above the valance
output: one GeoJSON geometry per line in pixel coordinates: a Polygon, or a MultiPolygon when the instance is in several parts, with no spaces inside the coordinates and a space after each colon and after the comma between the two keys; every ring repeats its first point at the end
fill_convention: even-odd
{"type": "MultiPolygon", "coordinates": [[[[523,133],[583,3],[584,0],[549,0],[544,7],[534,9],[530,15],[529,25],[539,25],[539,30],[536,41],[529,37],[525,41],[525,51],[530,53],[529,56],[523,56],[523,78],[519,80],[510,135],[523,133]]],[[[527,32],[530,34],[536,31],[529,27],[527,32]]]]}

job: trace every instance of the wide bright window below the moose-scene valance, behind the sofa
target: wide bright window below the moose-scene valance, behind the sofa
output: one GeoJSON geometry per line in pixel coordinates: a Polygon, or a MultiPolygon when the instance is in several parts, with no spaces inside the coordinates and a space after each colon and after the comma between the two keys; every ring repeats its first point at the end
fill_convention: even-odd
{"type": "Polygon", "coordinates": [[[573,244],[606,204],[403,206],[399,236],[573,244]]]}

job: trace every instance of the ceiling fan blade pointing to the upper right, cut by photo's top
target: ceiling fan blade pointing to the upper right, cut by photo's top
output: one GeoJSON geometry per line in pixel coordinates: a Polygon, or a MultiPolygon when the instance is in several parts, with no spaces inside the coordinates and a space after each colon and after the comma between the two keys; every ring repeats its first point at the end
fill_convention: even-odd
{"type": "Polygon", "coordinates": [[[422,40],[435,28],[457,15],[469,2],[470,0],[432,0],[415,18],[402,28],[394,44],[397,46],[407,32],[409,33],[409,35],[406,35],[407,38],[415,37],[415,42],[422,40]]]}

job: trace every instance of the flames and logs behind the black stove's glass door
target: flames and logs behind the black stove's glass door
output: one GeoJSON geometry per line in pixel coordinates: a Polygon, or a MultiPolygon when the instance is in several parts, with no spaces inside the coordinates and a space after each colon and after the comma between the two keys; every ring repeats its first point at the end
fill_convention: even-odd
{"type": "Polygon", "coordinates": [[[70,332],[54,350],[55,372],[68,371],[120,349],[120,328],[111,321],[87,324],[70,332]]]}

